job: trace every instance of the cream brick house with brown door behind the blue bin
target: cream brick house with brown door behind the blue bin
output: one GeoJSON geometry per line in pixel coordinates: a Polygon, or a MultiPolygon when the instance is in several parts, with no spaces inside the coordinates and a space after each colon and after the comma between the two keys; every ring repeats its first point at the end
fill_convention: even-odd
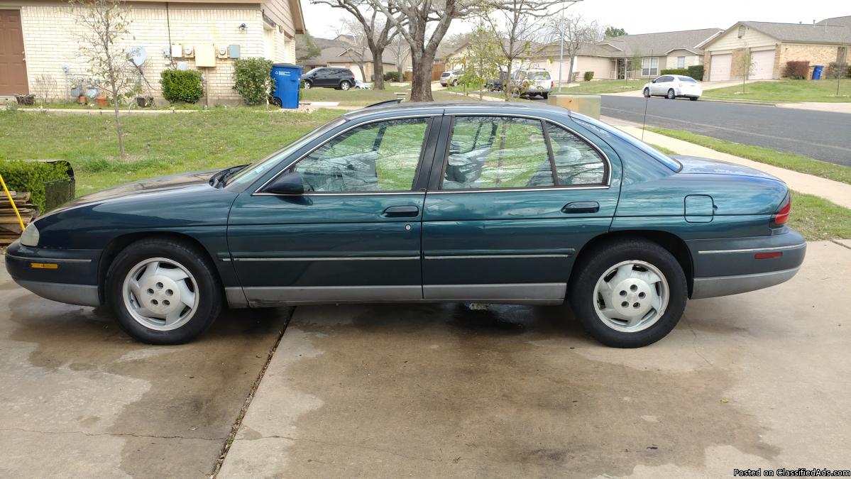
{"type": "MultiPolygon", "coordinates": [[[[211,103],[238,103],[231,88],[234,59],[294,63],[295,34],[305,31],[299,0],[133,0],[126,6],[132,24],[124,47],[144,48],[147,60],[140,70],[157,98],[161,71],[197,68],[211,103]],[[198,68],[197,62],[210,66],[198,68]]],[[[49,75],[57,83],[52,96],[70,99],[75,79],[87,76],[77,48],[79,28],[67,3],[0,0],[0,95],[34,93],[37,78],[49,75]]]]}

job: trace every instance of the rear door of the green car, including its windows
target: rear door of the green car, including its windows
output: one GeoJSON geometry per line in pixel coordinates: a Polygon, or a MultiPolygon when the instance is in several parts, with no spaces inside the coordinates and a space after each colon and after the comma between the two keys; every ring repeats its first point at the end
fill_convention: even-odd
{"type": "Polygon", "coordinates": [[[423,214],[424,297],[562,301],[579,248],[608,231],[617,206],[604,151],[534,117],[459,115],[442,128],[423,214]]]}

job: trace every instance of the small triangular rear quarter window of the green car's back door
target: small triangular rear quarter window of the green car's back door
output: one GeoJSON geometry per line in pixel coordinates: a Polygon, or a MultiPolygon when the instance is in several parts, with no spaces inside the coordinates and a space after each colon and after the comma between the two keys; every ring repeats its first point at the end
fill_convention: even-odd
{"type": "Polygon", "coordinates": [[[602,185],[606,163],[600,153],[574,133],[547,123],[559,185],[602,185]]]}

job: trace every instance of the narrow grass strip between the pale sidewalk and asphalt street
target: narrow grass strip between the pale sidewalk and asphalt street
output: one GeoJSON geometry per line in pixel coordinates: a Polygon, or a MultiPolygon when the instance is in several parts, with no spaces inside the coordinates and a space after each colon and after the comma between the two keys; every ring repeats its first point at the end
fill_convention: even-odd
{"type": "Polygon", "coordinates": [[[800,173],[813,174],[828,180],[841,181],[851,184],[851,168],[822,162],[810,157],[804,157],[797,153],[785,153],[762,146],[741,145],[733,141],[717,140],[710,136],[694,134],[688,131],[668,128],[647,128],[658,134],[664,134],[678,140],[688,141],[695,145],[705,146],[715,151],[728,153],[737,157],[748,158],[755,162],[766,163],[780,168],[791,169],[800,173]]]}

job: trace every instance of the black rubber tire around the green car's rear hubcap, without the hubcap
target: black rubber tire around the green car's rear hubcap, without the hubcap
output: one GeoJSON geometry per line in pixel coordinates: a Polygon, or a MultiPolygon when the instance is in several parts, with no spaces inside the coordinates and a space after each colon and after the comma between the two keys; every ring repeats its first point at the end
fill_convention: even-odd
{"type": "Polygon", "coordinates": [[[683,267],[659,244],[642,239],[619,239],[605,242],[584,252],[574,265],[568,287],[568,299],[574,315],[585,331],[603,345],[616,348],[637,348],[652,345],[671,332],[683,316],[688,299],[688,284],[683,267]],[[597,280],[622,261],[639,260],[658,269],[669,290],[668,304],[660,318],[636,332],[623,332],[609,327],[595,309],[594,290],[597,280]]]}

